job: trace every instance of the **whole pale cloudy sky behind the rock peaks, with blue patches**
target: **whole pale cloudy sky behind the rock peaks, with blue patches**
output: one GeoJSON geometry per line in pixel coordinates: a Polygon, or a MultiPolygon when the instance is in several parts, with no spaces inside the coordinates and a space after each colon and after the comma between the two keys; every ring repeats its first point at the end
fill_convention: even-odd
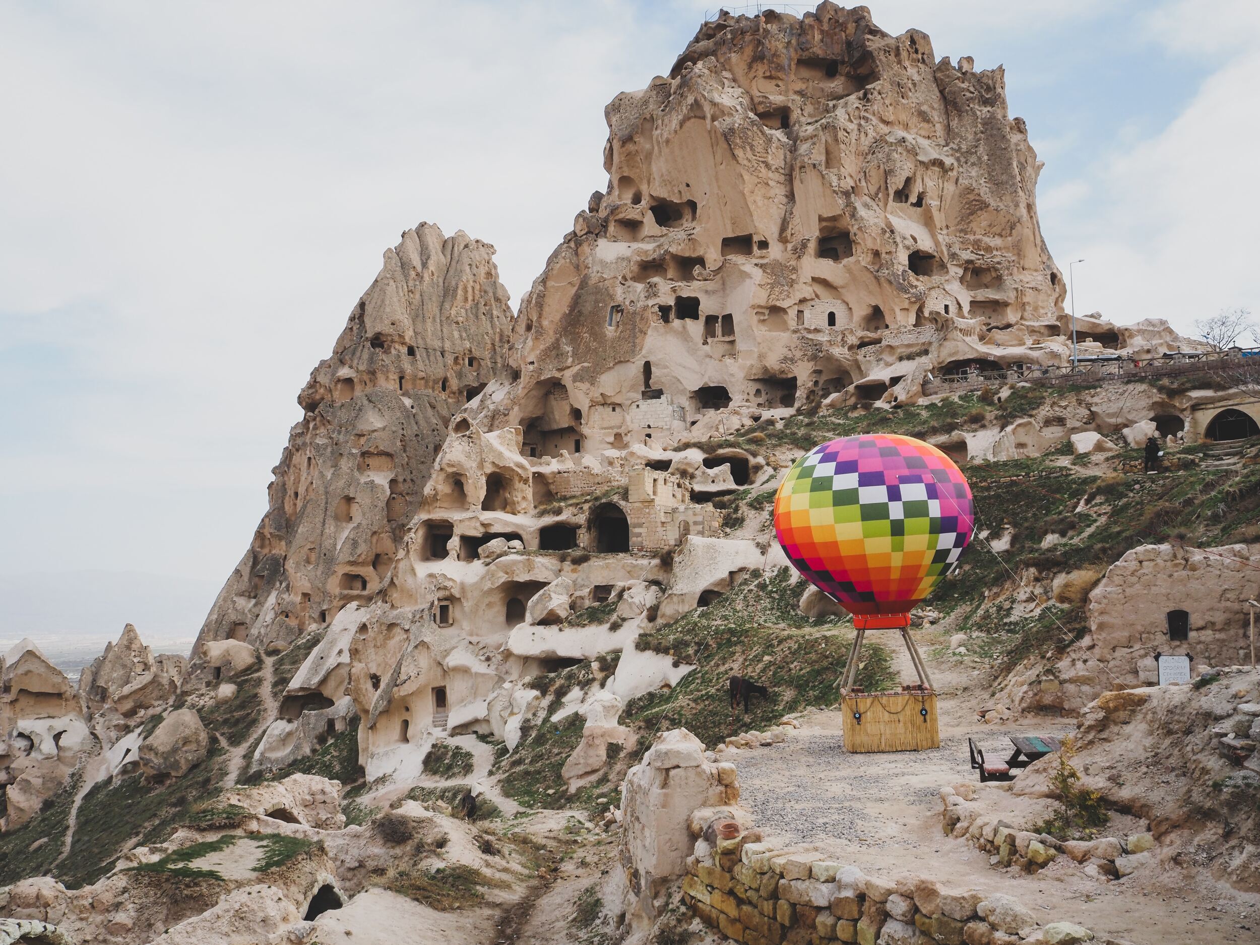
{"type": "MultiPolygon", "coordinates": [[[[869,5],[1005,68],[1080,312],[1260,314],[1260,4],[869,5]]],[[[519,302],[607,184],[604,106],[713,11],[0,4],[0,639],[195,633],[381,253],[464,229],[519,302]]]]}

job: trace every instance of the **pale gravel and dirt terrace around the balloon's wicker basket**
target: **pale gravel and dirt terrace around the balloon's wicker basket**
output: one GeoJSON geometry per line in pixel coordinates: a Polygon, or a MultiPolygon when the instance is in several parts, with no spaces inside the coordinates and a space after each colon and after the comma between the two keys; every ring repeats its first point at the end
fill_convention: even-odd
{"type": "MultiPolygon", "coordinates": [[[[908,660],[900,669],[903,679],[912,678],[908,660]]],[[[786,743],[727,756],[738,767],[741,804],[753,811],[767,839],[810,842],[838,862],[872,873],[912,871],[950,888],[1008,893],[1043,912],[1045,921],[1075,921],[1135,945],[1260,941],[1260,896],[1237,892],[1206,873],[1168,866],[1101,882],[1060,857],[1029,876],[995,868],[989,854],[942,835],[937,791],[978,780],[969,736],[998,756],[1011,751],[1009,735],[1057,736],[1071,727],[1058,719],[985,726],[975,713],[989,690],[983,668],[929,658],[929,670],[941,693],[940,748],[850,755],[843,750],[842,713],[811,711],[786,743]]],[[[988,786],[984,796],[1016,824],[1034,823],[1048,809],[1048,801],[988,786]]],[[[1142,829],[1140,820],[1116,815],[1108,833],[1142,829]]]]}

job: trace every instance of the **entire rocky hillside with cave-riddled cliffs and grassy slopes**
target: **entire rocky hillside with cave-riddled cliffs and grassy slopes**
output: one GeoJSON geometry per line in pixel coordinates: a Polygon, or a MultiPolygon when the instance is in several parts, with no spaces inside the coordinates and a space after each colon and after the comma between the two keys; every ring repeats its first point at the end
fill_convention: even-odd
{"type": "MultiPolygon", "coordinates": [[[[908,433],[969,476],[978,538],[915,620],[985,688],[987,722],[1072,717],[1183,643],[1196,677],[1240,662],[1260,456],[1212,440],[1254,398],[1193,365],[1047,386],[1070,357],[1062,280],[1000,69],[936,60],[866,8],[723,13],[606,117],[607,188],[514,320],[491,247],[421,224],[386,253],[186,665],[130,627],[77,689],[30,645],[0,660],[0,883],[40,877],[0,890],[0,915],[107,945],[373,922],[685,940],[684,867],[706,858],[688,896],[712,898],[742,856],[709,828],[756,843],[714,752],[779,745],[838,697],[852,620],[770,522],[785,470],[835,436],[908,433]],[[732,677],[765,692],[733,707],[732,677]]],[[[1202,348],[1079,323],[1084,352],[1124,363],[1202,348]]],[[[858,682],[896,689],[896,653],[869,645],[858,682]]],[[[1231,803],[1196,829],[1255,798],[1254,738],[1232,735],[1231,803]]],[[[777,876],[764,853],[757,882],[777,876]]],[[[878,931],[882,902],[917,902],[892,888],[843,908],[861,892],[878,931]]],[[[777,902],[782,929],[818,911],[777,902]]],[[[978,903],[976,934],[1014,941],[978,903]]],[[[735,937],[770,929],[733,907],[735,937]]]]}

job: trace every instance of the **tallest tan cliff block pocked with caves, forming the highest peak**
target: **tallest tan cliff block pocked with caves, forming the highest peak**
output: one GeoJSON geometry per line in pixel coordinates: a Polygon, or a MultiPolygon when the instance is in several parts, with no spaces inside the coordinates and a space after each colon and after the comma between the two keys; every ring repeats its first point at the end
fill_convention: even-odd
{"type": "Polygon", "coordinates": [[[507,418],[537,455],[659,446],[724,407],[896,399],[929,369],[1062,362],[1040,165],[1000,69],[937,63],[922,33],[824,3],[704,24],[606,117],[607,192],[515,325],[507,418]]]}

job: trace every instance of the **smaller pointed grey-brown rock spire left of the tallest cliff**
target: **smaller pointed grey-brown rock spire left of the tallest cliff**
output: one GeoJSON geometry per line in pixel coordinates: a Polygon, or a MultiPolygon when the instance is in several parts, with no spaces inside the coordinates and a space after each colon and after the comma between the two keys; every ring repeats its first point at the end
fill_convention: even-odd
{"type": "Polygon", "coordinates": [[[270,508],[198,636],[285,645],[379,590],[451,415],[508,375],[494,248],[421,223],[384,255],[268,488],[270,508]]]}

